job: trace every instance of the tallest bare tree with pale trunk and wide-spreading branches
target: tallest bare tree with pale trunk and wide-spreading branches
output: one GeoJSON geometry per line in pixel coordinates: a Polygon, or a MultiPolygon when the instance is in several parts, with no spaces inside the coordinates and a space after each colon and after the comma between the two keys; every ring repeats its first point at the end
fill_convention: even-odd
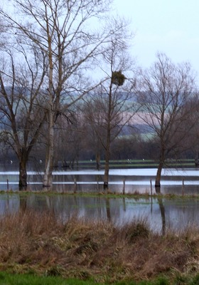
{"type": "MultiPolygon", "coordinates": [[[[12,0],[18,19],[4,9],[0,14],[23,45],[35,44],[46,55],[48,66],[46,98],[48,143],[45,155],[43,186],[52,185],[54,125],[61,113],[60,98],[84,95],[87,86],[82,72],[97,63],[115,34],[122,37],[124,22],[111,21],[107,11],[111,0],[12,0]],[[107,19],[105,19],[107,16],[107,19]],[[97,28],[99,27],[99,28],[97,28]]],[[[78,98],[70,97],[70,104],[78,98]]]]}

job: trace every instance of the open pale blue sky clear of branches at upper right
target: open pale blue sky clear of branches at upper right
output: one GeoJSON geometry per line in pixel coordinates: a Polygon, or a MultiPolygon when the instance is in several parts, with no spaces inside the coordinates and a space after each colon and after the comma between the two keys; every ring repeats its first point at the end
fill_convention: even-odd
{"type": "Polygon", "coordinates": [[[114,0],[118,14],[131,20],[131,56],[148,68],[156,53],[174,63],[188,61],[199,76],[198,0],[114,0]]]}

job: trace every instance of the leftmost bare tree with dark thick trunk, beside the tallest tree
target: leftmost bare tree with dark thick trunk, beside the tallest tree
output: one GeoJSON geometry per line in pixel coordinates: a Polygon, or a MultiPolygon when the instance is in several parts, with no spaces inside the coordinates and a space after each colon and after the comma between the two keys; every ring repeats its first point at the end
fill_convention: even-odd
{"type": "MultiPolygon", "coordinates": [[[[41,112],[41,85],[45,76],[38,73],[38,57],[31,63],[23,54],[23,65],[13,53],[6,51],[0,62],[1,141],[9,145],[19,162],[19,187],[27,186],[26,165],[45,121],[41,112]]],[[[22,56],[21,56],[22,58],[22,56]]],[[[32,58],[33,60],[33,58],[32,58]]]]}

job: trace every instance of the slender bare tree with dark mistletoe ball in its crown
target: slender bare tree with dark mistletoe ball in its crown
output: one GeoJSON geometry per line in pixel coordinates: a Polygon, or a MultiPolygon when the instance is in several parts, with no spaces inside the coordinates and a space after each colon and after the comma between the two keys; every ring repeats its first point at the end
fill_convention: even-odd
{"type": "Polygon", "coordinates": [[[108,190],[111,144],[136,111],[131,92],[134,86],[133,73],[131,72],[131,78],[123,74],[125,71],[130,74],[133,64],[127,54],[125,37],[123,41],[116,38],[112,40],[104,52],[104,61],[109,68],[106,72],[107,79],[95,90],[95,94],[87,98],[85,116],[104,148],[104,190],[108,190]]]}

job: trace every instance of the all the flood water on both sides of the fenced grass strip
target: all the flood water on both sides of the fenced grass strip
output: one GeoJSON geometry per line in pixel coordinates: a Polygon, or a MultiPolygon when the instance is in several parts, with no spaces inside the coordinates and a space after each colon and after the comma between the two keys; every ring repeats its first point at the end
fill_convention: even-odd
{"type": "MultiPolygon", "coordinates": [[[[112,192],[149,193],[148,198],[106,198],[103,195],[83,197],[64,192],[102,192],[103,171],[53,172],[53,190],[61,194],[35,192],[26,196],[17,192],[0,195],[0,215],[19,209],[50,210],[63,220],[73,214],[85,219],[103,219],[122,225],[133,219],[146,219],[151,229],[165,232],[186,227],[199,227],[199,170],[163,170],[161,192],[176,194],[175,199],[150,197],[155,194],[156,169],[110,170],[109,188],[112,192]],[[180,195],[184,195],[180,197],[180,195]],[[194,195],[191,197],[191,195],[194,195]],[[186,197],[187,196],[187,197],[186,197]]],[[[28,189],[42,190],[42,172],[28,172],[28,189]]],[[[18,190],[18,172],[0,172],[1,190],[18,190]]]]}

